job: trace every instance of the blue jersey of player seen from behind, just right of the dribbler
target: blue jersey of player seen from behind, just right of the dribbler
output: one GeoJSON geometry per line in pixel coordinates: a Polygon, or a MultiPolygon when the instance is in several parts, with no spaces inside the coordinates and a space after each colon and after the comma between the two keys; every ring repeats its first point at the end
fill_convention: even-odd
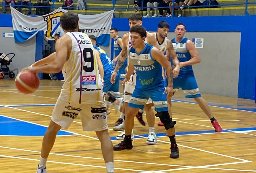
{"type": "MultiPolygon", "coordinates": [[[[100,60],[103,65],[104,74],[112,73],[114,71],[114,63],[110,60],[107,53],[98,46],[93,46],[95,50],[98,50],[100,52],[100,60]]],[[[118,72],[119,74],[119,72],[118,72]]]]}

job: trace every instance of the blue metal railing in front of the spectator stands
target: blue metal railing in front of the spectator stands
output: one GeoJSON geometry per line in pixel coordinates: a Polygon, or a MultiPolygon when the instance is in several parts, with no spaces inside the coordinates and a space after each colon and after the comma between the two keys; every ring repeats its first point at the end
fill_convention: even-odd
{"type": "MultiPolygon", "coordinates": [[[[56,2],[55,1],[57,1],[57,0],[52,0],[51,1],[52,5],[50,5],[50,6],[40,6],[40,5],[23,5],[24,2],[23,2],[23,0],[21,0],[20,1],[21,5],[16,5],[15,4],[15,8],[16,7],[21,7],[21,8],[30,8],[30,7],[31,8],[36,8],[36,7],[38,7],[38,8],[52,8],[52,10],[54,10],[54,9],[57,9],[57,8],[60,7],[60,6],[56,6],[56,4],[55,4],[56,2]]],[[[64,1],[64,0],[62,0],[62,1],[64,1]]],[[[97,0],[97,1],[110,1],[110,0],[97,0]]],[[[129,7],[129,4],[127,4],[126,8],[116,8],[116,1],[121,1],[121,0],[112,0],[112,7],[110,6],[110,8],[63,7],[63,9],[73,10],[73,9],[77,9],[77,8],[78,9],[85,8],[86,10],[100,10],[100,11],[108,11],[108,10],[113,10],[113,9],[115,9],[115,10],[124,10],[124,11],[125,10],[126,11],[127,10],[132,10],[133,11],[134,10],[133,7],[129,7]]],[[[173,0],[173,1],[175,2],[175,0],[173,0]]],[[[143,7],[143,3],[144,3],[144,1],[142,0],[142,2],[141,2],[141,6],[142,7],[139,7],[139,9],[141,9],[141,10],[147,9],[147,8],[155,8],[155,7],[143,7]]],[[[256,2],[249,3],[248,0],[245,0],[245,3],[232,3],[232,4],[220,4],[220,5],[210,5],[210,3],[208,3],[208,5],[185,6],[185,8],[198,8],[198,7],[200,7],[200,8],[214,8],[214,7],[229,7],[229,6],[234,6],[234,5],[245,5],[245,12],[244,12],[244,14],[248,15],[249,14],[248,13],[248,5],[251,5],[251,4],[256,4],[256,2]]],[[[9,7],[9,5],[5,5],[5,6],[9,7]]],[[[99,6],[100,6],[100,4],[99,4],[99,6]]],[[[156,8],[169,8],[169,6],[167,6],[167,7],[156,7],[156,8]]],[[[172,3],[171,8],[172,8],[172,16],[174,16],[174,10],[175,10],[175,8],[179,8],[179,6],[174,6],[174,3],[172,3]]]]}

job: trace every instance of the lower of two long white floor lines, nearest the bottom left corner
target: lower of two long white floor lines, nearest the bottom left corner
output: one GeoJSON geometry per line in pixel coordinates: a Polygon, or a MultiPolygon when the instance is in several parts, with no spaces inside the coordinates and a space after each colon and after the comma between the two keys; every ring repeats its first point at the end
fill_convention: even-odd
{"type": "MultiPolygon", "coordinates": [[[[15,156],[8,156],[8,155],[0,155],[0,157],[8,157],[8,158],[14,158],[14,159],[24,159],[24,160],[40,161],[39,159],[30,159],[30,158],[25,158],[25,157],[15,157],[15,156]]],[[[88,166],[88,167],[94,167],[94,168],[106,168],[106,166],[84,165],[84,164],[77,164],[77,163],[66,163],[66,162],[56,162],[56,161],[47,161],[47,162],[48,163],[59,163],[59,164],[65,164],[65,165],[88,166]]],[[[125,168],[114,168],[114,169],[148,173],[145,170],[125,169],[125,168]]]]}

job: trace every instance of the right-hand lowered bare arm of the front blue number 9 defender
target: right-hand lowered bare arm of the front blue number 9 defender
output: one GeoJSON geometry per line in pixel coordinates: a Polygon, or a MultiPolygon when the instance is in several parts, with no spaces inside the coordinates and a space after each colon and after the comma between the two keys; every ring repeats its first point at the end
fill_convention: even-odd
{"type": "Polygon", "coordinates": [[[166,87],[164,93],[167,93],[167,99],[171,99],[173,95],[173,73],[172,73],[172,66],[169,61],[166,59],[164,54],[156,47],[153,47],[151,50],[152,58],[155,59],[157,62],[165,68],[168,80],[168,86],[166,87]]]}

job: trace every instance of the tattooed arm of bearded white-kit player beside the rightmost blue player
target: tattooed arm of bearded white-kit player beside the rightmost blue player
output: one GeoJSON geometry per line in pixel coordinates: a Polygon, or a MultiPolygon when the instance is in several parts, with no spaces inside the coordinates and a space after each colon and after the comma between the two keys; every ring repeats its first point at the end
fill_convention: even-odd
{"type": "Polygon", "coordinates": [[[167,50],[166,56],[168,58],[168,61],[170,61],[170,58],[172,58],[172,62],[174,64],[174,68],[172,69],[173,78],[176,78],[179,75],[180,64],[179,64],[179,59],[176,55],[176,52],[173,48],[172,42],[169,39],[167,39],[167,49],[166,50],[167,50]]]}

